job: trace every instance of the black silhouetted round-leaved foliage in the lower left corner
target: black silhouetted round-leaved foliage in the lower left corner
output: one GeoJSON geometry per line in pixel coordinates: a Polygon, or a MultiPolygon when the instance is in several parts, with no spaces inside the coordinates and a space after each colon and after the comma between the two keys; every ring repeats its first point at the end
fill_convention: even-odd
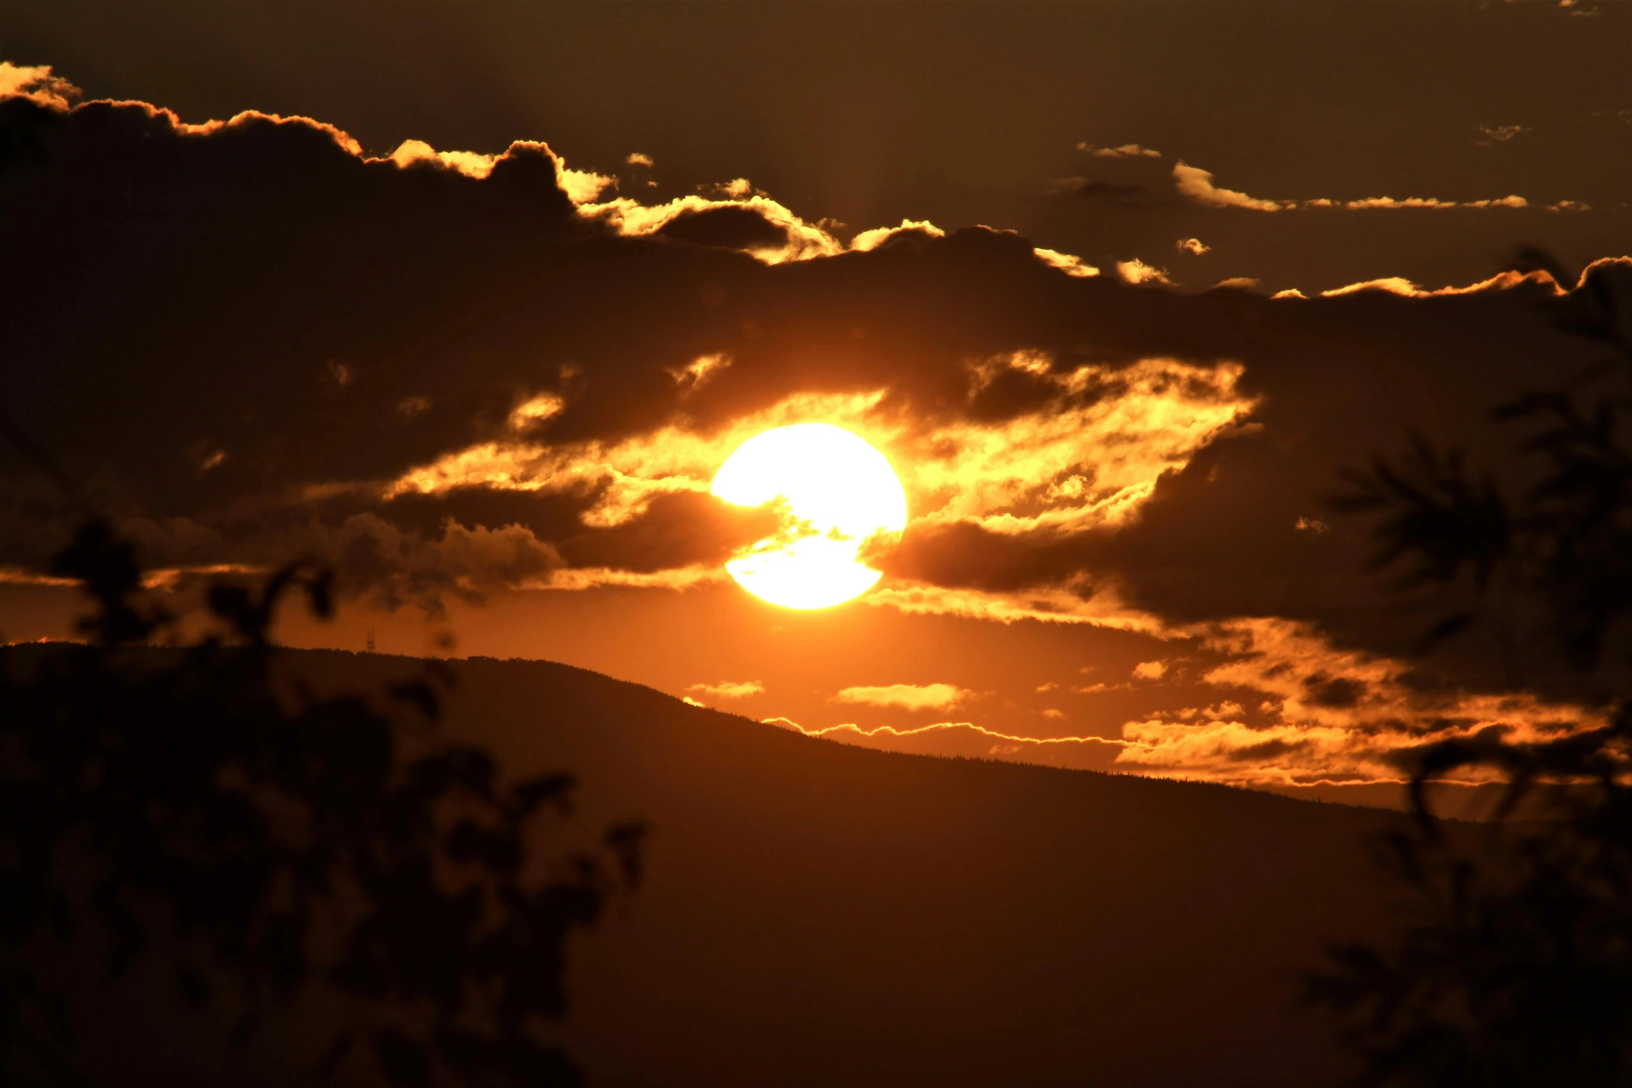
{"type": "Polygon", "coordinates": [[[211,587],[220,630],[168,648],[135,646],[176,620],[139,604],[106,524],[55,569],[96,602],[90,643],[0,657],[0,1081],[82,1083],[69,1005],[28,954],[86,928],[109,975],[163,948],[188,1005],[233,1003],[237,1044],[273,1003],[338,998],[313,1075],[372,1059],[398,1085],[578,1081],[539,1028],[565,1011],[568,936],[638,882],[640,825],[545,858],[573,780],[504,781],[441,741],[434,667],[384,706],[279,670],[274,608],[294,592],[326,617],[323,569],[211,587]]]}

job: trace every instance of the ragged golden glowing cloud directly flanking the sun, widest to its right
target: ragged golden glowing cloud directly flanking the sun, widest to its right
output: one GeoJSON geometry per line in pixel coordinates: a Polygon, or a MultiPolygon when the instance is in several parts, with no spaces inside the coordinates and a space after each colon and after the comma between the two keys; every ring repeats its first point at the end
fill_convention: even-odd
{"type": "MultiPolygon", "coordinates": [[[[718,360],[703,370],[730,374],[718,360]]],[[[713,499],[703,493],[738,444],[774,426],[824,418],[886,450],[919,511],[909,543],[898,556],[883,559],[885,569],[916,576],[937,571],[932,577],[953,579],[940,584],[969,586],[966,577],[953,574],[948,561],[960,569],[989,566],[994,573],[986,584],[1000,586],[1002,563],[951,559],[979,555],[969,533],[1013,538],[1040,527],[1066,533],[1124,519],[1151,494],[1162,471],[1183,463],[1190,452],[1250,409],[1234,391],[1239,370],[1229,365],[1196,369],[1141,360],[1120,369],[1061,372],[1049,357],[1020,352],[965,362],[961,370],[963,418],[942,424],[902,427],[878,419],[878,391],[795,396],[738,418],[713,436],[664,427],[614,445],[472,447],[408,471],[387,494],[395,501],[493,489],[594,496],[581,515],[594,529],[623,525],[654,502],[692,496],[703,507],[676,507],[681,514],[697,519],[708,512],[718,519],[708,506],[713,499]]],[[[681,514],[667,520],[682,524],[681,514]]],[[[764,520],[749,520],[762,515],[741,517],[739,529],[720,524],[723,535],[712,538],[720,542],[715,551],[694,548],[685,553],[689,561],[708,555],[723,561],[726,553],[718,548],[739,546],[752,540],[752,532],[769,532],[764,520]]],[[[612,540],[607,537],[596,548],[605,550],[612,540]]],[[[576,556],[571,542],[563,543],[563,553],[576,556]]],[[[1072,563],[1062,555],[1062,569],[1072,563]]]]}

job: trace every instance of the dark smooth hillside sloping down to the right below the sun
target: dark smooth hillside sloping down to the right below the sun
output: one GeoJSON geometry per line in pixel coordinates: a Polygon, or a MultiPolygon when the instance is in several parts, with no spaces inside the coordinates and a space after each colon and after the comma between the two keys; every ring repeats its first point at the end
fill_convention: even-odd
{"type": "MultiPolygon", "coordinates": [[[[320,688],[418,667],[290,661],[320,688]]],[[[645,886],[573,946],[566,1042],[591,1083],[1306,1088],[1342,1070],[1297,974],[1374,931],[1363,837],[1387,816],[847,747],[550,662],[454,672],[444,728],[517,775],[574,772],[576,832],[650,820],[645,886]]]]}

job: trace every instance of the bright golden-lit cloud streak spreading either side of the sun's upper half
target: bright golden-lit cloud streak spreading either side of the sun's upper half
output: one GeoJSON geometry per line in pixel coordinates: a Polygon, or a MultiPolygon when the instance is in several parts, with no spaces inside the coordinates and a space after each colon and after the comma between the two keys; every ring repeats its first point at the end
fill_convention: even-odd
{"type": "MultiPolygon", "coordinates": [[[[708,357],[685,374],[728,365],[730,359],[708,357]]],[[[1240,426],[1253,406],[1237,391],[1239,364],[1198,367],[1146,359],[1126,367],[1084,364],[1066,370],[1044,352],[971,360],[969,398],[1004,375],[1033,383],[1048,395],[1046,403],[992,424],[914,422],[888,411],[885,388],[801,393],[716,431],[676,422],[612,444],[552,445],[521,437],[483,442],[410,470],[382,484],[380,494],[434,496],[462,488],[596,493],[599,499],[583,522],[615,527],[641,515],[656,496],[707,493],[718,467],[749,437],[819,421],[858,434],[889,458],[907,491],[907,532],[951,522],[1007,535],[1082,532],[1133,517],[1164,473],[1182,468],[1222,431],[1240,426]]],[[[534,409],[535,403],[527,401],[517,413],[548,416],[563,401],[552,398],[534,409]]],[[[898,599],[912,612],[934,607],[934,597],[904,586],[885,597],[898,599]]],[[[969,607],[950,604],[947,610],[968,615],[969,607]]]]}

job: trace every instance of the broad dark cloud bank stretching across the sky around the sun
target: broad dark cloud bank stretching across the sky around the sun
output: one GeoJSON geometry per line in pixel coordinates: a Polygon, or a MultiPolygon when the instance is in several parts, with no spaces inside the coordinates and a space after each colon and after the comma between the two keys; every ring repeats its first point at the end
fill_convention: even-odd
{"type": "MultiPolygon", "coordinates": [[[[10,98],[0,153],[7,411],[152,563],[315,553],[388,607],[565,568],[716,564],[765,532],[697,493],[601,527],[583,524],[596,484],[387,498],[483,442],[710,432],[795,393],[876,388],[873,411],[911,426],[991,424],[1061,393],[1020,372],[971,393],[976,360],[1234,360],[1250,421],[1164,476],[1131,524],[924,527],[886,568],[987,590],[1116,584],[1172,621],[1315,620],[1395,652],[1421,615],[1358,576],[1364,525],[1324,506],[1340,468],[1413,427],[1495,460],[1510,436],[1488,409],[1593,360],[1557,331],[1570,299],[1541,277],[1436,297],[1180,295],[1069,276],[986,228],[767,264],[741,250],[787,230],[747,202],[625,237],[581,214],[542,144],[478,179],[367,160],[302,119],[186,127],[144,104],[10,98]],[[721,354],[707,382],[676,377],[721,354]],[[517,414],[540,396],[558,411],[517,414]]],[[[41,571],[73,514],[16,450],[0,465],[0,564],[41,571]]]]}

